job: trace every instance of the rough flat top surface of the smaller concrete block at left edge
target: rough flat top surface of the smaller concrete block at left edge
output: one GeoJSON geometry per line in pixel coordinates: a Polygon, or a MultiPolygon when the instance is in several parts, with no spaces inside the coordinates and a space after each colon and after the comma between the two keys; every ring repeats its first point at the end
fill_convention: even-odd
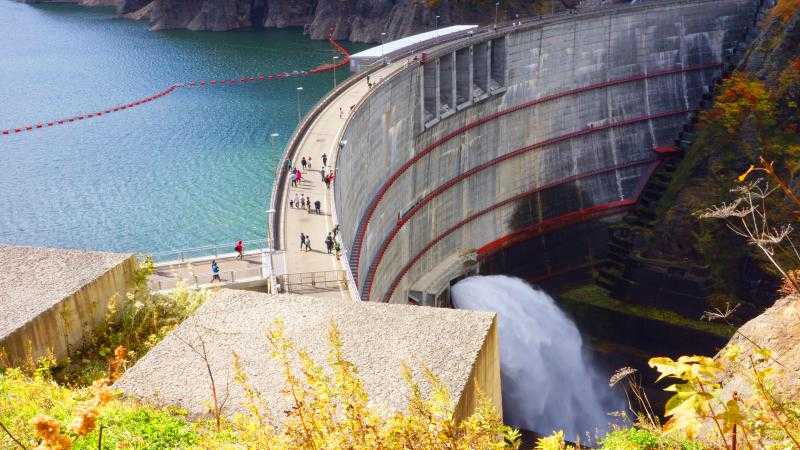
{"type": "Polygon", "coordinates": [[[0,340],[130,256],[0,244],[0,340]]]}

